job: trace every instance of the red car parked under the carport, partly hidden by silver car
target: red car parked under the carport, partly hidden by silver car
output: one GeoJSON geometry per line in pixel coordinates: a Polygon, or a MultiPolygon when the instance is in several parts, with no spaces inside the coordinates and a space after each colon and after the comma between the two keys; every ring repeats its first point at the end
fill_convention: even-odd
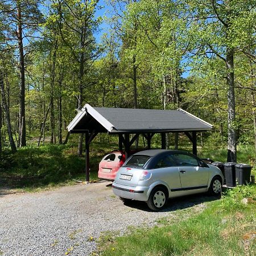
{"type": "MultiPolygon", "coordinates": [[[[130,153],[134,154],[139,151],[141,150],[131,150],[130,153]]],[[[117,174],[119,168],[125,163],[125,160],[125,152],[123,151],[114,150],[108,155],[105,155],[98,166],[98,178],[113,181],[115,174],[117,174]]]]}

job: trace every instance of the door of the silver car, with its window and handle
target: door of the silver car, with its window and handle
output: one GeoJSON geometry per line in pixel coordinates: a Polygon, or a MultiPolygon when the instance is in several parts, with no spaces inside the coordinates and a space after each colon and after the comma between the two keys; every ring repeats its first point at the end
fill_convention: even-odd
{"type": "Polygon", "coordinates": [[[201,167],[199,160],[188,154],[174,155],[179,168],[181,188],[206,188],[209,179],[209,168],[201,167]]]}

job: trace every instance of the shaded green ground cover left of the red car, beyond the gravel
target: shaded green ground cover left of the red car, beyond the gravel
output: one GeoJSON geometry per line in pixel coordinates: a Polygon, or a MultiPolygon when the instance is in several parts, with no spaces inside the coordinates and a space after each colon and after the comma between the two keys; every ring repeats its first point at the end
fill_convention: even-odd
{"type": "MultiPolygon", "coordinates": [[[[97,180],[98,163],[113,150],[96,142],[90,150],[90,180],[97,180]]],[[[85,157],[77,156],[76,144],[28,146],[16,154],[0,156],[0,186],[22,191],[37,191],[85,181],[85,157]]]]}

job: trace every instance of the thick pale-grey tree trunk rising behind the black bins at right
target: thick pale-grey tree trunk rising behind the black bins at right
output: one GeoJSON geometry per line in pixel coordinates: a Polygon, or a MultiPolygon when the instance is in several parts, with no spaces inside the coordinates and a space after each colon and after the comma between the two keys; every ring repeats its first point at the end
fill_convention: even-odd
{"type": "Polygon", "coordinates": [[[234,92],[234,49],[226,50],[226,66],[228,69],[228,162],[237,161],[237,136],[235,127],[235,92],[234,92]]]}

